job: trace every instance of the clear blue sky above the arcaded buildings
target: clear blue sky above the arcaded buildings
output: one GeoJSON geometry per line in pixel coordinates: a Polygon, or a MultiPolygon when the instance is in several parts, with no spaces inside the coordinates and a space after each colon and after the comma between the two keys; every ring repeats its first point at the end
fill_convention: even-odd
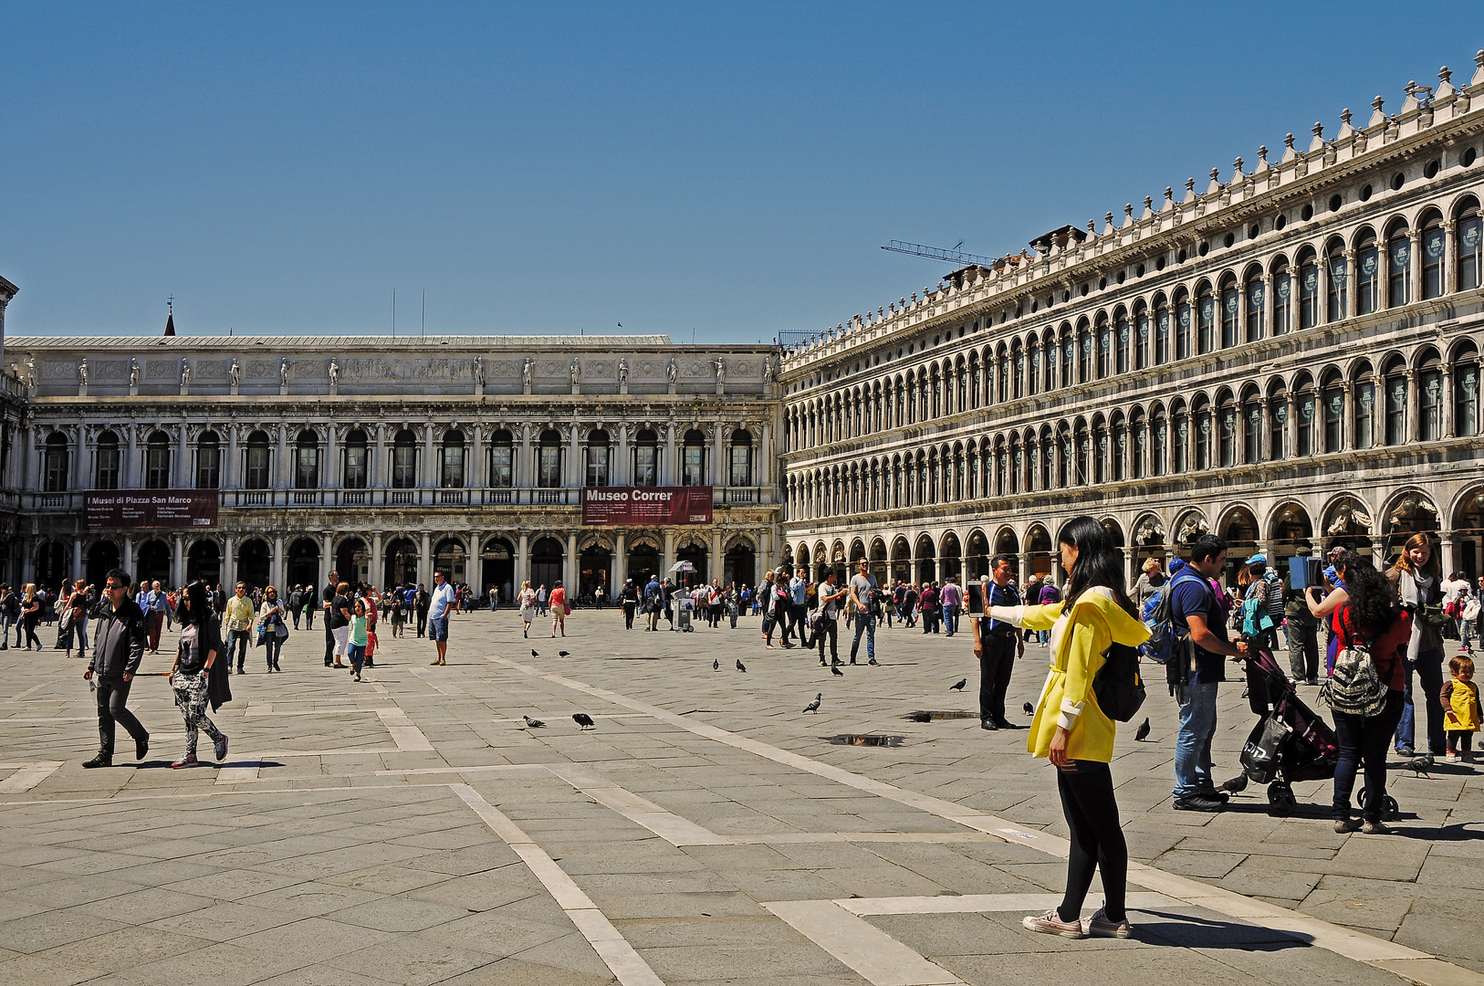
{"type": "Polygon", "coordinates": [[[10,334],[819,330],[1468,83],[1480,3],[0,1],[10,334]]]}

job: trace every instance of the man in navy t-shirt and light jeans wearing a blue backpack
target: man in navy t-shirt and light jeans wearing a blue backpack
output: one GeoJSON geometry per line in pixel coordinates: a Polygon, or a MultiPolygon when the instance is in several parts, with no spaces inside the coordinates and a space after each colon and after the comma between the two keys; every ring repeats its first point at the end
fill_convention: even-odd
{"type": "Polygon", "coordinates": [[[1177,655],[1165,665],[1171,692],[1180,702],[1175,735],[1175,811],[1221,811],[1226,794],[1211,780],[1211,738],[1215,735],[1215,693],[1226,680],[1226,659],[1245,656],[1245,643],[1226,636],[1226,609],[1209,579],[1226,567],[1226,541],[1201,536],[1190,546],[1190,563],[1169,585],[1171,616],[1177,631],[1190,636],[1190,658],[1177,655]],[[1187,575],[1189,572],[1189,575],[1187,575]]]}

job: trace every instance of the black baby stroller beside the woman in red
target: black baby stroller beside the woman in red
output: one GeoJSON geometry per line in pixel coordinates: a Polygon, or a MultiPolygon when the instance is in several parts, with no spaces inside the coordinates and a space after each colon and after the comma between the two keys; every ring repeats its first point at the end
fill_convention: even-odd
{"type": "MultiPolygon", "coordinates": [[[[1221,787],[1239,791],[1248,780],[1267,784],[1267,814],[1287,818],[1298,806],[1294,783],[1333,778],[1340,745],[1324,717],[1298,701],[1293,682],[1273,655],[1255,641],[1248,643],[1248,653],[1241,661],[1247,665],[1248,704],[1260,719],[1242,747],[1242,774],[1221,787]]],[[[1391,797],[1386,811],[1396,811],[1391,797]]]]}

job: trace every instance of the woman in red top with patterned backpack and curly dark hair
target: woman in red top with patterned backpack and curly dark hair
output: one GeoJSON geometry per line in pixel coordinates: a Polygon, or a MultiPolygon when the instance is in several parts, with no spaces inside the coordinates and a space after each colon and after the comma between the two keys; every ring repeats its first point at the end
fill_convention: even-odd
{"type": "Polygon", "coordinates": [[[1370,647],[1376,673],[1386,683],[1386,704],[1374,716],[1334,713],[1334,735],[1340,742],[1340,759],[1334,765],[1334,830],[1361,829],[1368,836],[1388,835],[1382,821],[1386,802],[1386,753],[1391,735],[1401,719],[1402,696],[1407,689],[1404,655],[1411,639],[1411,616],[1392,606],[1392,591],[1385,576],[1353,551],[1334,561],[1349,598],[1330,618],[1331,633],[1346,647],[1352,641],[1370,647]],[[1401,653],[1398,653],[1401,649],[1401,653]],[[1350,817],[1350,791],[1355,775],[1365,766],[1364,818],[1350,817]]]}

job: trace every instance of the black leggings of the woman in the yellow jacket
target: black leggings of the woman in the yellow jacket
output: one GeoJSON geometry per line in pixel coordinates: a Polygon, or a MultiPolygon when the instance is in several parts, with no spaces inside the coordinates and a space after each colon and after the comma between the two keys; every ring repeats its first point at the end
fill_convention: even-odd
{"type": "Polygon", "coordinates": [[[1061,811],[1071,829],[1071,855],[1067,857],[1067,892],[1057,913],[1076,921],[1092,887],[1092,872],[1103,869],[1103,910],[1109,921],[1123,921],[1123,895],[1128,884],[1128,843],[1117,821],[1113,797],[1113,772],[1098,760],[1071,760],[1057,769],[1061,811]]]}

